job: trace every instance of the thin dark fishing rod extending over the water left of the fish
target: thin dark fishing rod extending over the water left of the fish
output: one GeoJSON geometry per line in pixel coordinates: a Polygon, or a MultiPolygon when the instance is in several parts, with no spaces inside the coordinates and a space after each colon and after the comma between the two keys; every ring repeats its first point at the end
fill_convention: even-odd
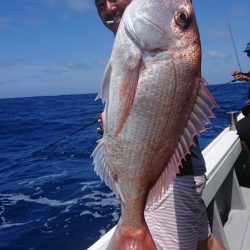
{"type": "MultiPolygon", "coordinates": [[[[99,119],[99,118],[98,118],[98,119],[99,119]]],[[[46,147],[44,147],[44,148],[42,148],[42,149],[33,151],[32,153],[30,153],[29,156],[26,156],[26,157],[22,157],[22,158],[16,159],[16,160],[11,164],[10,167],[14,166],[14,165],[17,164],[17,163],[20,163],[20,162],[23,162],[23,161],[27,161],[28,159],[32,158],[32,156],[34,156],[34,155],[40,155],[40,154],[42,154],[42,153],[43,153],[44,151],[46,151],[47,149],[49,149],[49,148],[51,148],[51,147],[53,147],[53,146],[59,144],[60,142],[64,141],[64,140],[67,139],[67,138],[70,138],[71,136],[73,136],[73,135],[79,133],[80,131],[83,131],[83,130],[85,130],[86,128],[88,128],[88,127],[94,125],[95,123],[98,122],[98,119],[95,119],[94,121],[88,123],[87,125],[85,125],[85,126],[83,126],[83,127],[80,127],[79,129],[77,129],[77,130],[75,130],[75,131],[73,131],[73,132],[71,132],[71,133],[65,135],[65,136],[62,137],[61,139],[59,139],[59,140],[57,140],[57,141],[55,141],[55,142],[53,142],[53,143],[50,143],[49,145],[47,145],[46,147]]],[[[8,168],[8,167],[7,167],[7,168],[8,168]]],[[[0,172],[2,172],[2,171],[4,171],[4,170],[6,170],[6,168],[0,169],[0,172]]]]}

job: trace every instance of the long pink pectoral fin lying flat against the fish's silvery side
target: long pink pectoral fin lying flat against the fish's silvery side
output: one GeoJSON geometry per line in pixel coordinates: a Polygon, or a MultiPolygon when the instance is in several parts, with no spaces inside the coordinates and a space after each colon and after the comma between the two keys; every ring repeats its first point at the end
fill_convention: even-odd
{"type": "Polygon", "coordinates": [[[129,69],[125,74],[119,93],[121,114],[120,119],[118,121],[117,129],[115,131],[115,136],[117,136],[121,132],[129,116],[129,112],[133,107],[139,75],[143,69],[144,62],[142,59],[140,59],[135,68],[129,69]]]}

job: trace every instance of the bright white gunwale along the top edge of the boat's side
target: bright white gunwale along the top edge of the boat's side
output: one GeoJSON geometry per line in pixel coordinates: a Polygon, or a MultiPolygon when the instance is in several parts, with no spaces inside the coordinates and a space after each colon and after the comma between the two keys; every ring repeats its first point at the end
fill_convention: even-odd
{"type": "MultiPolygon", "coordinates": [[[[242,117],[242,114],[240,114],[238,116],[238,119],[241,119],[242,117]]],[[[207,207],[215,198],[216,194],[218,193],[218,190],[221,189],[225,179],[228,177],[230,171],[233,169],[234,163],[239,157],[241,151],[241,143],[237,132],[235,130],[230,130],[229,127],[224,129],[202,151],[206,162],[206,175],[208,178],[202,197],[207,207]]],[[[219,222],[219,224],[220,230],[223,230],[221,221],[219,222]]],[[[113,227],[110,231],[103,235],[90,248],[88,248],[88,250],[105,249],[114,231],[115,227],[113,227]]],[[[224,236],[224,232],[220,232],[220,235],[218,235],[218,238],[221,237],[223,238],[221,241],[224,243],[224,245],[228,246],[226,236],[224,236]]]]}

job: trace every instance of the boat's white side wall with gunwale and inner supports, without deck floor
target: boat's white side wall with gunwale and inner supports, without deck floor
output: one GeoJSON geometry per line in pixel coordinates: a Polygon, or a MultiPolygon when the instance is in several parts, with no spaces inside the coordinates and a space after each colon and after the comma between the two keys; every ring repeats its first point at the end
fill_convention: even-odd
{"type": "MultiPolygon", "coordinates": [[[[234,164],[242,148],[235,126],[235,114],[231,115],[231,125],[218,135],[204,150],[207,167],[207,184],[203,191],[203,200],[207,206],[213,234],[227,249],[229,243],[224,231],[231,209],[246,209],[234,164]]],[[[242,115],[238,116],[241,119],[242,115]]],[[[103,250],[114,233],[115,227],[102,236],[88,250],[103,250]]]]}

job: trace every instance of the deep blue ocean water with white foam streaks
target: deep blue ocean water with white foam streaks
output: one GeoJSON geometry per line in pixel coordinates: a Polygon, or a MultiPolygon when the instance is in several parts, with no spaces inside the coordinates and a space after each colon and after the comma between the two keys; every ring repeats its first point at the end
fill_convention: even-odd
{"type": "MultiPolygon", "coordinates": [[[[243,84],[210,90],[220,107],[202,148],[228,126],[227,112],[246,101],[243,84]]],[[[0,100],[0,250],[84,250],[116,224],[119,203],[90,159],[97,125],[41,151],[93,122],[103,109],[94,98],[0,100]]]]}

